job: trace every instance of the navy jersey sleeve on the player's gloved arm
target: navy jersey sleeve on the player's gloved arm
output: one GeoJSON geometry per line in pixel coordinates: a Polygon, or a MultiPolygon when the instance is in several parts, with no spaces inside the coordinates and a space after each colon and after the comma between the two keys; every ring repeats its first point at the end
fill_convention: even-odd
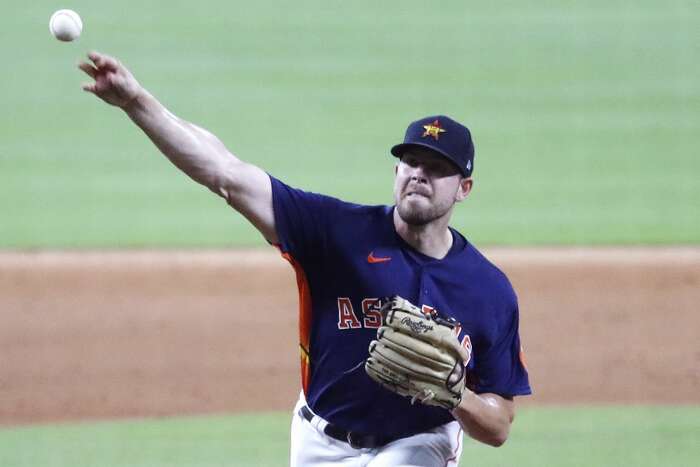
{"type": "Polygon", "coordinates": [[[532,394],[519,335],[517,298],[512,288],[506,309],[497,322],[499,334],[477,358],[476,393],[491,392],[505,397],[532,394]]]}

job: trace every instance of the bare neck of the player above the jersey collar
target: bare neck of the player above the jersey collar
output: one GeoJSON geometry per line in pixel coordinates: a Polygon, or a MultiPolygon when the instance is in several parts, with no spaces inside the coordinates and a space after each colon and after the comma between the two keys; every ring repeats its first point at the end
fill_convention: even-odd
{"type": "Polygon", "coordinates": [[[396,233],[414,249],[431,258],[442,259],[452,247],[452,233],[448,228],[450,216],[436,219],[425,225],[407,224],[394,208],[396,233]]]}

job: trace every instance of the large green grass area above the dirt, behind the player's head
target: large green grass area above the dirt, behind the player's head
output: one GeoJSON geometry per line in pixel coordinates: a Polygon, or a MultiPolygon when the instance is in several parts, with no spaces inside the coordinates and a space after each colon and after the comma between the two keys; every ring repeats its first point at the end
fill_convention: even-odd
{"type": "Polygon", "coordinates": [[[353,201],[391,203],[410,120],[463,120],[454,225],[478,244],[700,242],[694,2],[75,0],[70,44],[58,6],[10,0],[0,33],[0,248],[263,244],[80,90],[89,49],[239,157],[353,201]]]}

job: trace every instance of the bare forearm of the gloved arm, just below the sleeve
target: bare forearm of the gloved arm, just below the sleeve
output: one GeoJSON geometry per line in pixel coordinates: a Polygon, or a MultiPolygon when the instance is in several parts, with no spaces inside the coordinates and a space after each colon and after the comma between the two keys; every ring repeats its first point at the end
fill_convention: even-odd
{"type": "Polygon", "coordinates": [[[471,438],[498,447],[508,439],[514,411],[512,400],[467,390],[452,415],[471,438]]]}

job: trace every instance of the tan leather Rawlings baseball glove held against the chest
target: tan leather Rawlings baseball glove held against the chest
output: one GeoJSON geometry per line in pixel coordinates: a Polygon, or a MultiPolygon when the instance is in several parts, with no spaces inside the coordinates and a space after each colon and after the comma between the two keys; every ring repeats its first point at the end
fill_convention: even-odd
{"type": "Polygon", "coordinates": [[[425,314],[395,296],[381,309],[382,327],[369,345],[365,371],[377,383],[411,403],[453,409],[465,388],[467,350],[456,335],[454,319],[425,314]]]}

